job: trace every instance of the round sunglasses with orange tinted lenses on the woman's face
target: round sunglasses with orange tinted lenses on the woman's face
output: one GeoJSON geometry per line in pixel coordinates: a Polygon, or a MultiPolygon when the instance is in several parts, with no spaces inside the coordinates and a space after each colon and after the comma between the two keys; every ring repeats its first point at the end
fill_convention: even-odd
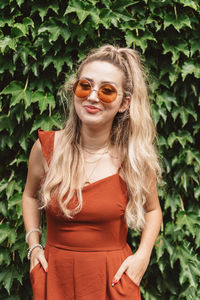
{"type": "Polygon", "coordinates": [[[92,91],[96,91],[100,101],[104,103],[111,103],[115,101],[117,95],[117,89],[110,83],[102,84],[98,90],[95,90],[91,83],[86,79],[79,79],[73,85],[73,91],[76,97],[84,99],[88,97],[92,91]]]}

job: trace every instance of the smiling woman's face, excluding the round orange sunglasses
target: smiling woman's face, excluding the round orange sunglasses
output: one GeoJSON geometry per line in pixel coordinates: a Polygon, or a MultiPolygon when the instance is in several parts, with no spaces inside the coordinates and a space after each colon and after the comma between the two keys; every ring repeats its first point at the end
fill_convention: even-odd
{"type": "Polygon", "coordinates": [[[123,73],[113,64],[106,61],[94,61],[85,65],[79,79],[87,79],[92,85],[92,92],[88,97],[78,98],[74,95],[76,113],[82,121],[82,126],[98,129],[102,126],[111,128],[117,112],[123,112],[123,73]],[[112,84],[117,90],[117,97],[113,102],[104,103],[98,98],[97,91],[103,83],[112,84]]]}

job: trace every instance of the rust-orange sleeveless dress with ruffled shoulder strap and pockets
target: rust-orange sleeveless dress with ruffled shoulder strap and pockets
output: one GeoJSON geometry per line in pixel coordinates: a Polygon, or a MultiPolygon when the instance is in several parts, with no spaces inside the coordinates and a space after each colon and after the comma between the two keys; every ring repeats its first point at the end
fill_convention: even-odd
{"type": "MultiPolygon", "coordinates": [[[[38,133],[49,164],[55,132],[38,133]]],[[[30,272],[33,299],[140,300],[140,287],[126,273],[112,287],[120,265],[132,255],[125,182],[118,172],[83,187],[82,195],[83,208],[73,220],[61,214],[56,199],[46,209],[48,272],[40,264],[30,272]]]]}

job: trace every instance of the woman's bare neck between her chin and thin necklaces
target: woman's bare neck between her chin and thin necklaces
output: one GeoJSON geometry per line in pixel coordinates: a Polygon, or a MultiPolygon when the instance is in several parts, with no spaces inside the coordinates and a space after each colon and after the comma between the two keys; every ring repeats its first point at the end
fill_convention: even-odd
{"type": "Polygon", "coordinates": [[[110,131],[106,128],[93,130],[86,126],[81,128],[82,146],[86,149],[96,150],[105,148],[109,144],[110,131]]]}

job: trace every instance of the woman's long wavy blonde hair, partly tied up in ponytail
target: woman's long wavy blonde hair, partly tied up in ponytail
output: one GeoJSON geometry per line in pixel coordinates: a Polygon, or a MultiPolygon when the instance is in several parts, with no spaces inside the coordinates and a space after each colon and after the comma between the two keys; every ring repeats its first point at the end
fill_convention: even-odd
{"type": "MultiPolygon", "coordinates": [[[[148,100],[146,76],[138,53],[129,48],[105,45],[92,50],[81,63],[77,78],[85,65],[93,61],[106,61],[124,74],[124,96],[131,98],[130,107],[117,113],[111,128],[110,142],[121,154],[121,172],[127,184],[128,204],[125,219],[130,228],[141,230],[145,223],[144,204],[153,182],[159,178],[160,167],[154,148],[156,136],[148,100]]],[[[67,99],[72,85],[63,86],[67,99]]],[[[70,97],[73,97],[71,94],[70,97]]],[[[56,144],[48,173],[42,185],[42,204],[46,207],[57,193],[61,211],[72,219],[82,209],[81,184],[84,176],[84,158],[80,146],[81,122],[73,101],[68,120],[56,144]],[[69,201],[77,196],[77,206],[68,209],[69,201]]]]}

